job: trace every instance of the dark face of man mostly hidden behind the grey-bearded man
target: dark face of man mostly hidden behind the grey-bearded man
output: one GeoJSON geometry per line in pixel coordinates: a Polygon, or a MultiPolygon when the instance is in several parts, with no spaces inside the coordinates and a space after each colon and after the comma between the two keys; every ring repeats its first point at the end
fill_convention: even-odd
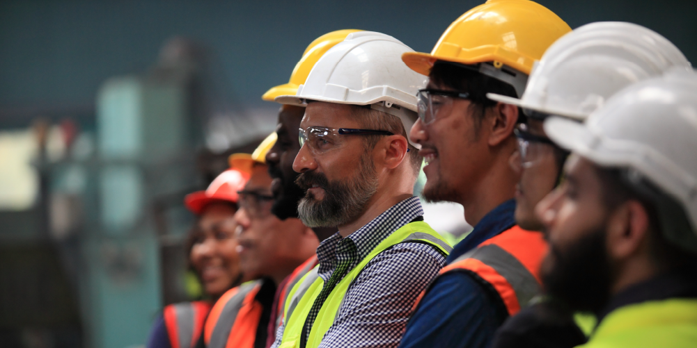
{"type": "Polygon", "coordinates": [[[295,183],[298,173],[293,171],[293,161],[300,150],[298,128],[303,115],[304,107],[281,107],[276,127],[278,140],[266,155],[268,171],[273,178],[271,191],[274,203],[271,212],[282,220],[298,217],[298,202],[305,196],[305,191],[295,183]]]}

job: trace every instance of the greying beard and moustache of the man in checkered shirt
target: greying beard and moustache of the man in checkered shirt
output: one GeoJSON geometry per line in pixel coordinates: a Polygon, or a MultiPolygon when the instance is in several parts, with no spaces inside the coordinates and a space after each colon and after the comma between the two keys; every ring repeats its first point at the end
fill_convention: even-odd
{"type": "Polygon", "coordinates": [[[298,205],[302,223],[315,228],[342,226],[358,219],[377,191],[378,180],[374,166],[363,157],[359,173],[352,179],[329,182],[323,173],[307,171],[298,175],[296,184],[305,190],[318,184],[324,190],[323,200],[307,192],[298,205]]]}

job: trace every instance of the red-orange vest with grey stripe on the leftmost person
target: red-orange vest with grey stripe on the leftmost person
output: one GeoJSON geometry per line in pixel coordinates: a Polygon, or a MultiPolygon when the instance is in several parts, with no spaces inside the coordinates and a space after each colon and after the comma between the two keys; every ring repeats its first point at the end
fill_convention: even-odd
{"type": "Polygon", "coordinates": [[[201,337],[210,310],[205,301],[183,302],[164,307],[162,317],[172,348],[191,348],[201,337]]]}

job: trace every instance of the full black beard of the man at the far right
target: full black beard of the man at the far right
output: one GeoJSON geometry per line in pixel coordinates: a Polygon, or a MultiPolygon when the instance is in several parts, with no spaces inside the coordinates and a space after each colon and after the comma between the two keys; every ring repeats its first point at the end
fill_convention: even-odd
{"type": "Polygon", "coordinates": [[[608,302],[611,285],[605,238],[604,228],[599,228],[574,242],[565,252],[550,244],[549,255],[544,260],[550,267],[542,267],[546,292],[567,303],[572,310],[599,313],[608,302]]]}

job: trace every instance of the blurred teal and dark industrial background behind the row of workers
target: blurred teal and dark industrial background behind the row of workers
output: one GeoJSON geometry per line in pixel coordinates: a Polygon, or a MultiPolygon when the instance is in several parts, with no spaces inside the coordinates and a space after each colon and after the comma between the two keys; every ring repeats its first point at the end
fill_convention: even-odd
{"type": "MultiPolygon", "coordinates": [[[[144,345],[196,296],[183,196],[273,131],[261,94],[307,44],[353,28],[428,52],[482,1],[0,1],[0,347],[144,345]]],[[[697,59],[697,1],[538,2],[697,59]]]]}

